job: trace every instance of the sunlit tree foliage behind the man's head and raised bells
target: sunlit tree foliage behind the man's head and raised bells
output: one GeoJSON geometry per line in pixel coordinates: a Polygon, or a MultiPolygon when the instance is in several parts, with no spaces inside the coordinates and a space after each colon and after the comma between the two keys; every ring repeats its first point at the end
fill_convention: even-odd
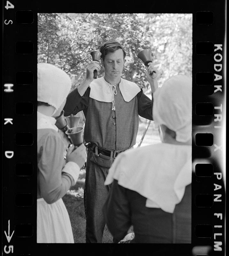
{"type": "MultiPolygon", "coordinates": [[[[38,63],[63,69],[70,75],[73,88],[86,76],[90,52],[111,39],[126,50],[122,77],[129,81],[149,87],[146,68],[137,58],[142,49],[153,52],[159,84],[170,76],[192,74],[192,14],[38,14],[38,63]]],[[[101,68],[98,77],[104,75],[103,71],[101,68]]]]}

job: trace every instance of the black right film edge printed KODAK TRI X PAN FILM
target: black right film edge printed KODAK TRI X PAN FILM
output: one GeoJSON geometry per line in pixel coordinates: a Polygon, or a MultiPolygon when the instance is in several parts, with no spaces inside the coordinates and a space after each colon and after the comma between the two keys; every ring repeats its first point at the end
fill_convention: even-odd
{"type": "Polygon", "coordinates": [[[199,33],[193,41],[192,243],[197,255],[224,255],[225,34],[217,33],[223,20],[214,12],[196,12],[195,19],[193,31],[199,33]]]}

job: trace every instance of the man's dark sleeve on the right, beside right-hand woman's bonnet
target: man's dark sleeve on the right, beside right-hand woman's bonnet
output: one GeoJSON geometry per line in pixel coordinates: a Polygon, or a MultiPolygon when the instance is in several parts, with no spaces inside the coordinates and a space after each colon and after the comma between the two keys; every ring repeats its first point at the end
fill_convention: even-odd
{"type": "Polygon", "coordinates": [[[147,97],[142,89],[141,91],[137,94],[138,98],[138,114],[139,116],[142,116],[146,119],[153,120],[153,94],[152,94],[152,100],[147,97]]]}

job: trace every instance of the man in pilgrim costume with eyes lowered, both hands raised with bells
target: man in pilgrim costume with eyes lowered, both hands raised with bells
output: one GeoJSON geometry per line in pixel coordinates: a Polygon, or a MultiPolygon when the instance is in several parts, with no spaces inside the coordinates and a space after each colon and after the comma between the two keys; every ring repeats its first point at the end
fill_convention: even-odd
{"type": "MultiPolygon", "coordinates": [[[[100,52],[104,76],[93,79],[93,71],[99,71],[100,65],[98,61],[92,61],[85,80],[68,95],[64,107],[65,116],[83,110],[86,118],[86,243],[103,242],[106,222],[102,208],[111,188],[104,186],[104,181],[111,164],[120,152],[135,145],[139,115],[153,120],[153,102],[143,93],[142,86],[121,78],[126,56],[123,46],[108,41],[100,47],[100,52]]],[[[153,63],[149,63],[146,75],[153,93],[158,87],[153,63]]]]}

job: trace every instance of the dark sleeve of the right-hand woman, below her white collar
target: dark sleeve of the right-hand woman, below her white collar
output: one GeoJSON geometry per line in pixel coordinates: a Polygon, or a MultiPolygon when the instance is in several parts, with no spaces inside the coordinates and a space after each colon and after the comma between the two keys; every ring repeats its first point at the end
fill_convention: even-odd
{"type": "Polygon", "coordinates": [[[112,183],[103,206],[103,215],[112,236],[118,241],[122,240],[131,226],[131,220],[126,188],[118,185],[117,180],[112,183]]]}

